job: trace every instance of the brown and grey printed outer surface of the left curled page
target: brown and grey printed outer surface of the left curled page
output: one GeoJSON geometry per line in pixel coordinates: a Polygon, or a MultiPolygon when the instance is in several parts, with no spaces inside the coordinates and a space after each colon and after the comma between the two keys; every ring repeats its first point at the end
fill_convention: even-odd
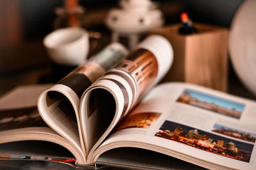
{"type": "Polygon", "coordinates": [[[128,51],[123,45],[111,43],[56,84],[70,87],[78,97],[81,97],[87,87],[124,59],[127,54],[128,51]]]}

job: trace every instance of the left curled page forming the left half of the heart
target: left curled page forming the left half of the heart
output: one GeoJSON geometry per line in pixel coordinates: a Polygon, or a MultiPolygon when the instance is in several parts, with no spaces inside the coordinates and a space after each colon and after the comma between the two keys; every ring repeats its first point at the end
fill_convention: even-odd
{"type": "MultiPolygon", "coordinates": [[[[70,74],[45,90],[38,99],[38,110],[45,122],[61,136],[83,147],[78,117],[81,94],[127,55],[120,43],[111,43],[70,74]]],[[[84,148],[83,148],[84,150],[84,148]]],[[[84,151],[85,152],[85,151],[84,151]]]]}

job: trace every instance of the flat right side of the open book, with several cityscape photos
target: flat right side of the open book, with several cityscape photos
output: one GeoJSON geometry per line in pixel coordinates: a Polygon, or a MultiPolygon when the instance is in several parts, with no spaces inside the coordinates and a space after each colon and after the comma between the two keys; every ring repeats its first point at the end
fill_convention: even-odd
{"type": "Polygon", "coordinates": [[[166,83],[152,90],[99,150],[134,146],[208,168],[252,169],[255,109],[256,103],[248,99],[166,83]]]}

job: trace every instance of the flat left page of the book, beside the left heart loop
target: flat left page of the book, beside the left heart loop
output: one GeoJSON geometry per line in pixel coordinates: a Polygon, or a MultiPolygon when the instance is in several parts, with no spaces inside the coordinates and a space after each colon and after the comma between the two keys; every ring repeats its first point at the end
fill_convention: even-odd
{"type": "Polygon", "coordinates": [[[36,101],[40,93],[50,86],[22,85],[4,94],[0,98],[0,131],[48,127],[38,113],[36,101]]]}

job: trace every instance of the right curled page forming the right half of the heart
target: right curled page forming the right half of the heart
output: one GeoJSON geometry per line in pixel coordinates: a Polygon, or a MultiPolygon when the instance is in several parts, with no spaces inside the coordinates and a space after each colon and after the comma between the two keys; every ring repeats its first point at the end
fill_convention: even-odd
{"type": "Polygon", "coordinates": [[[163,78],[172,60],[169,41],[163,36],[150,36],[84,92],[80,113],[89,150],[95,143],[95,147],[99,145],[116,122],[163,78]]]}

